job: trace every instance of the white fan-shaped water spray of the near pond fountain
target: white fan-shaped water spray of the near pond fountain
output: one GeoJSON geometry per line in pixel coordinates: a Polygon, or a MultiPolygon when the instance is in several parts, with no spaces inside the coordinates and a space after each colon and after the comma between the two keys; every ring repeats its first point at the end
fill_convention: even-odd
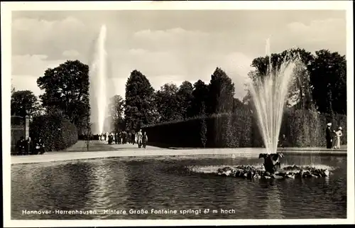
{"type": "Polygon", "coordinates": [[[266,151],[270,154],[276,153],[278,148],[283,109],[297,60],[284,58],[280,67],[273,69],[269,40],[266,43],[266,55],[269,64],[266,75],[251,82],[250,92],[256,109],[259,131],[266,151]]]}

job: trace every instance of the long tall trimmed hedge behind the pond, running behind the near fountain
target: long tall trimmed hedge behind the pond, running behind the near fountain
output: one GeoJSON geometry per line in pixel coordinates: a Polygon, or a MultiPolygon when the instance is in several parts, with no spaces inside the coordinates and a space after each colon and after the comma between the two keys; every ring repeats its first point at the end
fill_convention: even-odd
{"type": "MultiPolygon", "coordinates": [[[[343,127],[342,144],[346,144],[346,115],[333,117],[310,110],[286,110],[280,129],[287,146],[325,146],[325,127],[331,121],[334,129],[343,127]]],[[[256,116],[247,109],[233,114],[216,114],[209,117],[172,121],[146,126],[149,144],[167,147],[204,147],[203,136],[207,126],[209,148],[262,147],[256,116]]]]}

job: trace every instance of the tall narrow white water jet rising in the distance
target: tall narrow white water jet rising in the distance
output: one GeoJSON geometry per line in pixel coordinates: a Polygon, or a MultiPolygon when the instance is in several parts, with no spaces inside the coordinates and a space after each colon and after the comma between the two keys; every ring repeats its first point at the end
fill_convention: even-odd
{"type": "Polygon", "coordinates": [[[99,37],[94,43],[94,53],[89,71],[89,99],[91,107],[90,121],[92,133],[102,134],[107,117],[107,52],[106,26],[100,29],[99,37]]]}

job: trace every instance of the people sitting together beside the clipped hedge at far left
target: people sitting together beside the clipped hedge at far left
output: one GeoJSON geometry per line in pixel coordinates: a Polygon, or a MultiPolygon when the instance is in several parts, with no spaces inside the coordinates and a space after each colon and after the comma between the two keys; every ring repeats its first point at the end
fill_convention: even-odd
{"type": "Polygon", "coordinates": [[[43,154],[45,146],[42,139],[32,140],[21,137],[16,143],[16,155],[43,154]]]}

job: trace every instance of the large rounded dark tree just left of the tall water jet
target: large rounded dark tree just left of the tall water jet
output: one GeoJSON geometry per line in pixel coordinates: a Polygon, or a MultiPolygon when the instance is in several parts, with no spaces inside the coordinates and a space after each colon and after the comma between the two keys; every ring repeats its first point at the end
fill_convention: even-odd
{"type": "Polygon", "coordinates": [[[40,95],[43,107],[61,110],[78,129],[86,126],[89,113],[89,66],[79,60],[67,60],[37,80],[45,92],[40,95]]]}

